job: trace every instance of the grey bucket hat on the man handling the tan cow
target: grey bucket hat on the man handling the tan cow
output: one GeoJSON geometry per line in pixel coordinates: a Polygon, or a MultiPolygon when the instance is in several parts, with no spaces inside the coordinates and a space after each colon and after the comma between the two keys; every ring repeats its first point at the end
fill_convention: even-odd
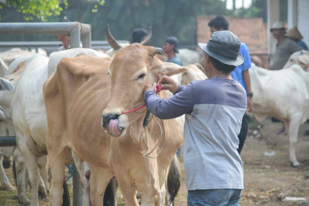
{"type": "Polygon", "coordinates": [[[240,40],[230,31],[218,31],[211,35],[207,44],[198,46],[211,57],[227,65],[239,66],[243,64],[243,56],[239,53],[240,40]]]}

